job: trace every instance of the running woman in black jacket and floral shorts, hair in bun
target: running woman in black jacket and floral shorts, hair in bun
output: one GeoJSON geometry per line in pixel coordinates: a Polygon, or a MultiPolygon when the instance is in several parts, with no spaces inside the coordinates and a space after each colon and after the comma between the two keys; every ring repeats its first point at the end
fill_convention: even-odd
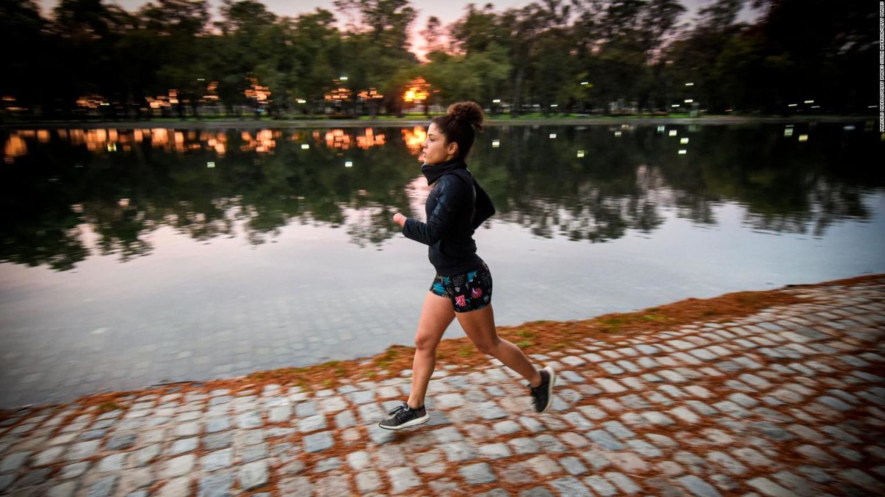
{"type": "Polygon", "coordinates": [[[478,104],[461,102],[451,104],[446,115],[431,121],[427,140],[421,145],[421,172],[433,187],[425,206],[427,223],[399,212],[393,217],[406,238],[429,247],[436,276],[424,298],[415,335],[409,400],[390,411],[392,417],[381,421],[381,428],[401,430],[430,420],[424,396],[436,364],[436,346],[455,317],[481,353],[527,379],[536,411],[550,409],[556,379],[553,368],[536,370],[522,350],[498,337],[491,305],[492,275],[476,255],[473,242],[473,231],[495,213],[489,195],[473,180],[465,163],[484,119],[478,104]]]}

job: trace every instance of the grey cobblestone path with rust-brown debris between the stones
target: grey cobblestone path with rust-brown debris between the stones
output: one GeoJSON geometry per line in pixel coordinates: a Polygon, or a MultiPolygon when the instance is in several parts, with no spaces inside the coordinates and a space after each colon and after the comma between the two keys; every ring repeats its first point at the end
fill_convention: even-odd
{"type": "Polygon", "coordinates": [[[431,422],[375,424],[410,371],[327,390],[134,394],[0,424],[0,494],[881,495],[885,282],[730,322],[535,354],[553,408],[496,361],[440,365],[431,422]]]}

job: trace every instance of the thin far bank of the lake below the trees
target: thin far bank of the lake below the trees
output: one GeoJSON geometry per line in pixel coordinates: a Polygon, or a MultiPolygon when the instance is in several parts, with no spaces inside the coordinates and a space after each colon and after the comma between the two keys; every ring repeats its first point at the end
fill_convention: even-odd
{"type": "MultiPolygon", "coordinates": [[[[291,120],[254,120],[225,119],[204,121],[163,120],[121,120],[121,121],[42,121],[22,123],[0,123],[0,129],[36,129],[81,128],[98,129],[105,127],[135,129],[152,127],[173,127],[181,129],[219,129],[219,128],[301,128],[301,127],[389,127],[389,126],[421,126],[429,119],[291,119],[291,120]]],[[[612,117],[612,118],[548,118],[548,119],[495,119],[487,118],[484,126],[658,126],[673,124],[704,124],[730,125],[753,123],[793,123],[793,122],[858,122],[875,120],[875,116],[790,116],[790,117],[752,117],[752,116],[705,116],[700,118],[667,118],[667,117],[612,117]]]]}

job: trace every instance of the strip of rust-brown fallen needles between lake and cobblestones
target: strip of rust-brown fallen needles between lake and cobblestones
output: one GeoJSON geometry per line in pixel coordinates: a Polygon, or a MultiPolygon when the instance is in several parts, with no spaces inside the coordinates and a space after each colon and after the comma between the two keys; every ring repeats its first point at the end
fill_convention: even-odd
{"type": "MultiPolygon", "coordinates": [[[[790,291],[797,288],[823,288],[867,282],[885,284],[885,273],[812,284],[787,285],[771,290],[733,292],[706,299],[688,298],[648,309],[610,313],[581,320],[539,320],[521,325],[499,325],[497,333],[502,338],[517,344],[526,355],[545,353],[573,347],[576,342],[591,338],[613,342],[638,334],[663,332],[670,328],[700,322],[726,323],[772,306],[802,302],[789,294],[790,291]]],[[[16,412],[31,409],[60,406],[79,406],[79,409],[94,409],[97,406],[99,409],[103,409],[102,406],[116,406],[118,402],[122,402],[127,397],[152,394],[208,393],[218,389],[239,392],[268,385],[299,387],[316,391],[350,385],[358,381],[381,381],[397,378],[401,376],[402,371],[411,372],[413,350],[412,347],[392,345],[379,354],[355,359],[327,361],[303,367],[253,371],[235,378],[203,381],[182,380],[143,386],[127,391],[96,392],[68,402],[26,404],[18,408],[0,409],[0,421],[13,417],[16,412]],[[304,378],[323,379],[318,382],[309,382],[304,378]]],[[[437,370],[445,365],[455,365],[456,368],[461,369],[488,362],[489,357],[479,354],[466,337],[444,338],[437,348],[437,370]]]]}

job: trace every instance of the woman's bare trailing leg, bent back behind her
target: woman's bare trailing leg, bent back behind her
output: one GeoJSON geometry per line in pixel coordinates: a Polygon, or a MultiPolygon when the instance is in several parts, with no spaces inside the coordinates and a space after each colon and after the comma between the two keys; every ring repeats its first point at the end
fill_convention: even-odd
{"type": "Polygon", "coordinates": [[[535,366],[528,362],[528,357],[522,353],[522,350],[497,336],[495,311],[492,310],[491,304],[480,310],[458,312],[457,316],[464,333],[467,333],[467,337],[481,353],[495,357],[508,368],[518,372],[531,386],[538,386],[541,383],[541,375],[535,370],[535,366]]]}

